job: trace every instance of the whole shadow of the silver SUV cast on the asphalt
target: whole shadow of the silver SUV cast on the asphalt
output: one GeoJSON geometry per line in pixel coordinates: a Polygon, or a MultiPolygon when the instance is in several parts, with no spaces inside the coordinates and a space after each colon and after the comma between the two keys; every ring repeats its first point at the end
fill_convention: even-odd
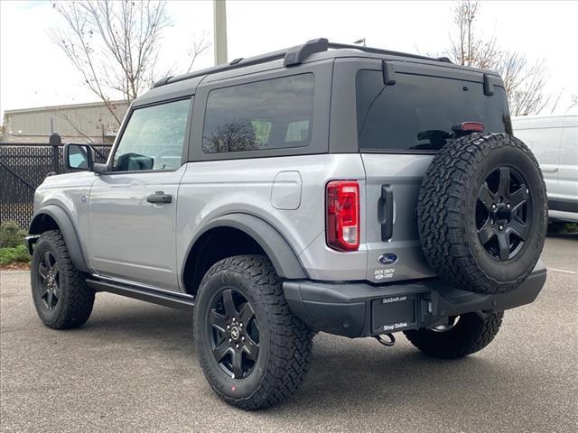
{"type": "MultiPolygon", "coordinates": [[[[196,370],[191,313],[148,304],[134,307],[131,303],[126,308],[100,309],[82,332],[94,344],[145,345],[156,359],[194,364],[194,369],[186,370],[196,370]]],[[[443,361],[423,355],[402,334],[396,337],[398,344],[389,348],[370,338],[315,336],[311,369],[300,390],[284,404],[257,413],[264,417],[295,411],[302,416],[342,416],[343,410],[355,414],[378,401],[382,410],[422,408],[438,415],[447,410],[448,416],[454,416],[456,411],[471,411],[472,400],[499,404],[498,395],[505,399],[503,404],[508,403],[512,383],[508,359],[480,354],[443,361]]],[[[520,374],[534,373],[516,374],[519,380],[520,374]]],[[[220,403],[216,396],[215,401],[220,403]]]]}

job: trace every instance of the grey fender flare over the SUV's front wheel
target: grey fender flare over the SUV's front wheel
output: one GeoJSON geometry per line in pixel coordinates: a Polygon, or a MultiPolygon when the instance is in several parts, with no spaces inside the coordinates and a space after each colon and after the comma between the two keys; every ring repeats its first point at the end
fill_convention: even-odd
{"type": "Polygon", "coordinates": [[[72,223],[72,219],[69,217],[68,213],[62,209],[62,207],[57,205],[48,205],[34,212],[28,233],[30,235],[42,234],[44,231],[42,230],[42,219],[45,215],[51,217],[59,226],[61,234],[64,236],[64,242],[66,242],[66,246],[69,249],[70,260],[74,263],[74,266],[80,272],[89,272],[84,253],[82,252],[82,247],[80,246],[79,235],[76,227],[72,223]]]}

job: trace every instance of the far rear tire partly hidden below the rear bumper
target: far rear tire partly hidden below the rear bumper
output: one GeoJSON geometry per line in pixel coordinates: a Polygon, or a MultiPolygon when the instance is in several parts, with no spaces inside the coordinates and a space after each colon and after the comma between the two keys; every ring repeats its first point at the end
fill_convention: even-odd
{"type": "Polygon", "coordinates": [[[482,318],[477,313],[461,316],[454,327],[445,332],[431,329],[405,331],[407,339],[424,354],[455,359],[479,352],[498,334],[503,311],[482,318]]]}

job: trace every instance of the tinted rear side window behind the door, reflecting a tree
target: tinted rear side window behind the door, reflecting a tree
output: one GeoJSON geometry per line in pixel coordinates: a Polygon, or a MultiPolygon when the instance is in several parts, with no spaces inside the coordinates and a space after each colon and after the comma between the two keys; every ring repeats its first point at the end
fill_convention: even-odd
{"type": "Polygon", "coordinates": [[[202,150],[217,153],[307,146],[312,116],[312,74],[212,90],[202,150]]]}

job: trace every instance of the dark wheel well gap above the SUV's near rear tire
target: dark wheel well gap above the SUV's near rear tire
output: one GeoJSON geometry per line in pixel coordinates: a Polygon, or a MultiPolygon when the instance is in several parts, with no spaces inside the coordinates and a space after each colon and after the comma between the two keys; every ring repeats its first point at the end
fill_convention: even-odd
{"type": "Polygon", "coordinates": [[[184,266],[183,282],[187,293],[197,294],[202,277],[213,264],[239,254],[266,255],[255,239],[238,228],[215,227],[201,235],[192,245],[184,266]]]}

